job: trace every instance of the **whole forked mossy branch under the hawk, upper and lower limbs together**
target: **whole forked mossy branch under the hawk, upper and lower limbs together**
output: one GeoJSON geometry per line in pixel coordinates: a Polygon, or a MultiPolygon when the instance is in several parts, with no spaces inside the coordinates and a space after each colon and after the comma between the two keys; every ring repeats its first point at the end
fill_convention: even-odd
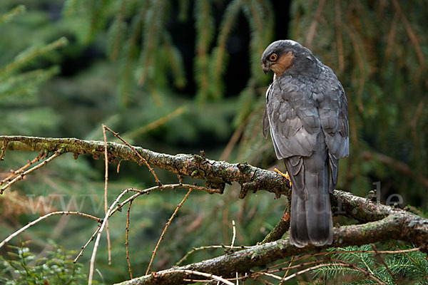
{"type": "MultiPolygon", "coordinates": [[[[24,136],[0,136],[0,145],[4,150],[27,150],[73,152],[102,157],[104,145],[101,141],[86,141],[75,138],[36,138],[24,136]]],[[[266,190],[279,196],[290,195],[290,186],[276,172],[262,170],[247,164],[230,164],[224,161],[208,160],[203,155],[168,155],[142,147],[134,147],[152,166],[168,170],[177,175],[204,179],[208,185],[223,189],[225,183],[238,182],[243,198],[248,191],[266,190]]],[[[110,157],[140,162],[130,147],[108,142],[110,157]]],[[[365,224],[342,226],[334,229],[334,242],[331,247],[369,244],[387,239],[397,239],[421,247],[427,251],[428,219],[402,209],[374,202],[371,199],[357,197],[349,192],[335,190],[332,194],[332,207],[335,214],[352,217],[365,224]]],[[[208,259],[174,269],[158,271],[141,276],[121,284],[182,284],[188,278],[183,270],[201,271],[216,276],[228,277],[235,272],[244,273],[254,266],[269,264],[272,261],[291,257],[303,252],[318,250],[320,247],[308,246],[302,249],[293,247],[288,239],[260,244],[233,254],[208,259]],[[180,270],[178,270],[180,269],[180,270]]],[[[197,276],[193,276],[197,278],[197,276]]]]}

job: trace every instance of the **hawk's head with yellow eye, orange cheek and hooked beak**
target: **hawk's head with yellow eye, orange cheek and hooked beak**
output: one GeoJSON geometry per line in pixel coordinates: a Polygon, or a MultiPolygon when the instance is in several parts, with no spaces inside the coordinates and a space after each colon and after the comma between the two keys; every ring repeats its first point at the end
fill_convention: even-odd
{"type": "Polygon", "coordinates": [[[281,76],[302,56],[307,58],[312,56],[312,53],[300,43],[291,40],[274,41],[263,52],[263,71],[273,71],[276,76],[281,76]]]}

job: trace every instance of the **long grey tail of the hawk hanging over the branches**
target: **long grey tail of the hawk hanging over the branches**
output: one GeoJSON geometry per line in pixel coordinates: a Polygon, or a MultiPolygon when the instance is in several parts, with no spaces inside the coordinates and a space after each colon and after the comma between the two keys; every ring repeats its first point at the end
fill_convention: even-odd
{"type": "Polygon", "coordinates": [[[285,165],[292,181],[290,242],[295,247],[323,246],[333,239],[330,168],[325,152],[289,157],[285,165]]]}

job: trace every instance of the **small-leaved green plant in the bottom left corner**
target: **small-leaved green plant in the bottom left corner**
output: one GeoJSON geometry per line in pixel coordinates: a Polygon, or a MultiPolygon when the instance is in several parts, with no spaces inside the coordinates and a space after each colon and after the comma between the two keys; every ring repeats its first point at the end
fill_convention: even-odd
{"type": "Polygon", "coordinates": [[[86,275],[82,274],[83,264],[73,263],[71,254],[54,244],[53,251],[46,257],[38,258],[29,247],[9,247],[9,257],[0,257],[0,282],[5,285],[19,284],[82,284],[86,275]]]}

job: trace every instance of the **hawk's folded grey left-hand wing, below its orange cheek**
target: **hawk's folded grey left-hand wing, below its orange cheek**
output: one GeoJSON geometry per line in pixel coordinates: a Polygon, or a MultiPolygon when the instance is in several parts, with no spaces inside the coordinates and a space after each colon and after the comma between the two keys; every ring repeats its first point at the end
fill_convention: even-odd
{"type": "Polygon", "coordinates": [[[309,156],[316,149],[320,118],[305,83],[277,78],[268,89],[266,117],[278,159],[309,156]]]}

